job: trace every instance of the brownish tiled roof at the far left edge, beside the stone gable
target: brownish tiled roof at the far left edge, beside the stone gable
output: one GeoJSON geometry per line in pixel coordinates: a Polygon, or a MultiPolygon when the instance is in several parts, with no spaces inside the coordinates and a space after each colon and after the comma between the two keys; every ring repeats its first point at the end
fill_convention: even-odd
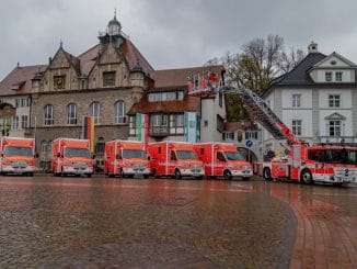
{"type": "Polygon", "coordinates": [[[25,94],[32,92],[32,79],[36,72],[43,72],[46,65],[19,66],[14,68],[1,82],[0,96],[25,94]]]}

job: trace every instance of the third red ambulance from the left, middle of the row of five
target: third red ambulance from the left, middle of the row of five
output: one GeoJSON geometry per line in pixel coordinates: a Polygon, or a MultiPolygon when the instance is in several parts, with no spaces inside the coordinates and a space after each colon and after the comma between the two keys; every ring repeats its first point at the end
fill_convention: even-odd
{"type": "Polygon", "coordinates": [[[105,143],[104,171],[106,176],[148,178],[150,166],[145,145],[136,141],[111,141],[105,143]]]}

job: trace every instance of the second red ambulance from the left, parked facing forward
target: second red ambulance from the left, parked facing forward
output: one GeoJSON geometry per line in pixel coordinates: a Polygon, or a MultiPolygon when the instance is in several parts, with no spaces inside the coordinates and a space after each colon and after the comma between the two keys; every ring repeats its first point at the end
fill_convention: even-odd
{"type": "Polygon", "coordinates": [[[57,138],[53,142],[51,170],[55,176],[93,173],[89,139],[57,138]]]}

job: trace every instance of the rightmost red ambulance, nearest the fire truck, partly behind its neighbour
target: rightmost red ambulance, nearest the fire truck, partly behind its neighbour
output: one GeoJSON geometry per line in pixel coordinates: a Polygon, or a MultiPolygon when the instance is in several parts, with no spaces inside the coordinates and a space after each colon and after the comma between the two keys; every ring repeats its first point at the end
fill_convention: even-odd
{"type": "Polygon", "coordinates": [[[247,180],[253,176],[252,165],[237,152],[233,143],[198,143],[194,149],[204,162],[207,177],[223,177],[226,180],[241,177],[247,180]]]}

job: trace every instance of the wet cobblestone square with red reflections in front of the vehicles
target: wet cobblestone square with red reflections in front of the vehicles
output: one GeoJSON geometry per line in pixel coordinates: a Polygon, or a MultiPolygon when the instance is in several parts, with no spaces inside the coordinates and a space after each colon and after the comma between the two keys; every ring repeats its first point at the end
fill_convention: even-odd
{"type": "Polygon", "coordinates": [[[0,178],[0,268],[355,268],[357,188],[0,178]]]}

